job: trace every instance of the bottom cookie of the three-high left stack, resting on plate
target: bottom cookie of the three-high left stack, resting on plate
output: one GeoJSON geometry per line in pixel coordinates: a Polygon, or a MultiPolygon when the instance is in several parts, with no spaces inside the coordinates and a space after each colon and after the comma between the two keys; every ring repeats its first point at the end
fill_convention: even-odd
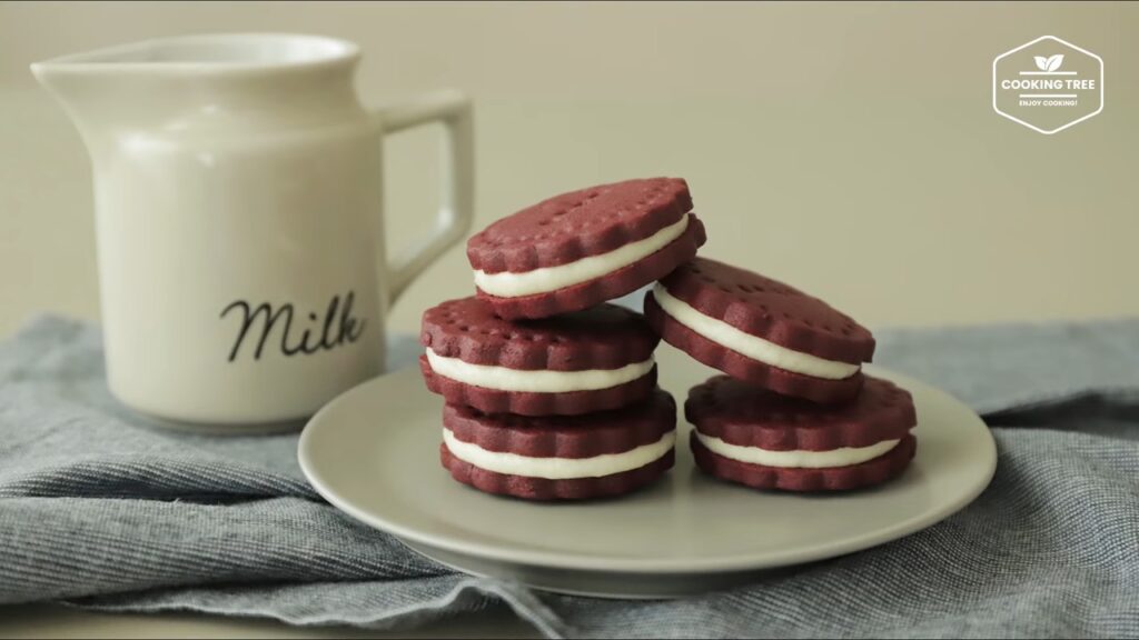
{"type": "Polygon", "coordinates": [[[674,460],[677,405],[650,400],[588,416],[482,413],[443,408],[440,458],[454,479],[527,500],[583,500],[629,493],[674,460]]]}

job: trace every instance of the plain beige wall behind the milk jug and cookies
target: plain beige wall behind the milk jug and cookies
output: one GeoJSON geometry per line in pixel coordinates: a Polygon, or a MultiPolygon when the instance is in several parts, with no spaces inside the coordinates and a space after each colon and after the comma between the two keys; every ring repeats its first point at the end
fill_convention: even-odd
{"type": "MultiPolygon", "coordinates": [[[[0,335],[96,318],[90,178],[31,61],[206,31],[349,38],[369,100],[477,104],[478,223],[629,177],[689,180],[707,255],[885,325],[1139,313],[1139,6],[0,3],[0,335]],[[1052,137],[995,115],[992,58],[1099,54],[1106,108],[1052,137]]],[[[390,145],[393,243],[426,227],[434,132],[390,145]]],[[[469,290],[452,251],[393,322],[469,290]]]]}

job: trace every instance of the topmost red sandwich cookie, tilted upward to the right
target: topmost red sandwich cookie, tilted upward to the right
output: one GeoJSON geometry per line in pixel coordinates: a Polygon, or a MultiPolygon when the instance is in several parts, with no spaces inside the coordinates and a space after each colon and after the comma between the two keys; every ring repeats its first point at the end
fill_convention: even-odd
{"type": "Polygon", "coordinates": [[[502,318],[548,318],[621,297],[693,259],[704,225],[678,178],[555,196],[467,241],[478,297],[502,318]]]}

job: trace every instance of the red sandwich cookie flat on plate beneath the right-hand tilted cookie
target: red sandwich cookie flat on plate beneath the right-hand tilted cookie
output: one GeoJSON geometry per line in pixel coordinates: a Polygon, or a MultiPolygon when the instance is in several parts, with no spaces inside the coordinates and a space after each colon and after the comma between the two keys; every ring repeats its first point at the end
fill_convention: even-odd
{"type": "Polygon", "coordinates": [[[755,489],[844,491],[884,483],[913,458],[910,394],[866,378],[858,400],[826,407],[727,376],[693,387],[690,445],[706,474],[755,489]]]}

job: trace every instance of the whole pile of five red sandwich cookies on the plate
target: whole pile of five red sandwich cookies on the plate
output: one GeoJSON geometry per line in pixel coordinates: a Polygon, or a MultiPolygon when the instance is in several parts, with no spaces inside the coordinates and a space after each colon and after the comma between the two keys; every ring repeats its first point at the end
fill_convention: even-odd
{"type": "Polygon", "coordinates": [[[658,478],[675,440],[675,404],[656,386],[661,338],[727,374],[685,404],[703,471],[834,491],[909,465],[913,403],[862,374],[870,333],[782,282],[695,257],[705,235],[691,207],[683,180],[631,180],[550,198],[470,238],[476,295],[429,309],[421,333],[456,479],[546,500],[658,478]],[[644,317],[606,303],[654,281],[644,317]]]}

